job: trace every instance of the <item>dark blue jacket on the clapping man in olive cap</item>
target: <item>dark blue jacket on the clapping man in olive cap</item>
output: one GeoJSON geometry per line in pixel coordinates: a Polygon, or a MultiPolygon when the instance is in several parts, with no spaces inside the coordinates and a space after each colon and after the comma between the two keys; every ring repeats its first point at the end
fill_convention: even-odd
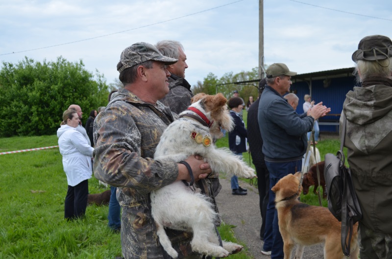
{"type": "Polygon", "coordinates": [[[307,148],[306,133],[312,130],[313,118],[298,115],[272,87],[266,86],[260,97],[258,121],[263,136],[263,153],[269,162],[302,159],[307,148]]]}

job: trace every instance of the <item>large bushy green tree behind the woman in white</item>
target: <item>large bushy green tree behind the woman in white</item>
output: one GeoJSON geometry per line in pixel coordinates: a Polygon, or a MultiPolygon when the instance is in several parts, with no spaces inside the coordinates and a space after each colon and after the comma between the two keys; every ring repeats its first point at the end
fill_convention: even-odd
{"type": "Polygon", "coordinates": [[[0,70],[0,136],[49,135],[59,128],[63,111],[79,105],[87,119],[90,110],[106,105],[108,86],[82,61],[63,57],[55,62],[3,62],[0,70]]]}

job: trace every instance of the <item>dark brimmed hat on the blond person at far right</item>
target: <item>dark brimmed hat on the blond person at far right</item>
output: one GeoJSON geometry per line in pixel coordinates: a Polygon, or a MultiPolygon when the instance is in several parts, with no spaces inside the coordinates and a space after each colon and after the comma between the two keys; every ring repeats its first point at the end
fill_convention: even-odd
{"type": "Polygon", "coordinates": [[[391,39],[382,35],[371,35],[363,38],[358,44],[351,59],[354,62],[358,60],[383,60],[392,57],[391,39]]]}

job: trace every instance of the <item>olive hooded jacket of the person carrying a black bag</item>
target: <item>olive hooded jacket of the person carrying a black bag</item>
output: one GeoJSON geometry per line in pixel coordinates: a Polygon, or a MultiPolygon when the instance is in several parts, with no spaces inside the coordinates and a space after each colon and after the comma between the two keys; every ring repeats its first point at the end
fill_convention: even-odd
{"type": "Polygon", "coordinates": [[[343,114],[347,118],[344,146],[364,216],[361,223],[391,235],[392,80],[364,80],[362,87],[346,94],[343,114]]]}

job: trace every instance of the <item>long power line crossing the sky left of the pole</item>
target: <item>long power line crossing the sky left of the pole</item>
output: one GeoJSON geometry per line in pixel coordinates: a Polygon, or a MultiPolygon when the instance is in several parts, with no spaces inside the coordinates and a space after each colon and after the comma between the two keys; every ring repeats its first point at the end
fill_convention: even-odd
{"type": "Polygon", "coordinates": [[[162,21],[162,22],[151,23],[151,24],[148,24],[148,25],[145,25],[145,26],[140,26],[140,27],[137,27],[137,28],[132,28],[132,29],[128,29],[128,30],[118,31],[118,32],[114,32],[114,33],[109,33],[109,34],[105,34],[105,35],[101,35],[101,36],[97,36],[97,37],[92,37],[92,38],[87,38],[87,39],[83,39],[83,40],[79,40],[79,41],[73,41],[73,42],[68,42],[68,43],[61,43],[61,44],[50,45],[50,46],[40,47],[40,48],[32,48],[32,49],[21,50],[21,51],[13,51],[13,52],[9,52],[9,53],[0,54],[0,56],[16,54],[16,53],[22,53],[22,52],[33,51],[33,50],[44,49],[44,48],[57,47],[57,46],[62,46],[62,45],[67,45],[67,44],[72,44],[72,43],[84,42],[84,41],[90,41],[90,40],[94,40],[94,39],[98,39],[98,38],[103,38],[103,37],[107,37],[107,36],[111,36],[111,35],[115,35],[115,34],[124,33],[124,32],[127,32],[127,31],[133,31],[133,30],[149,27],[149,26],[160,24],[160,23],[164,23],[164,22],[171,22],[171,21],[174,21],[174,20],[178,20],[178,19],[185,18],[185,17],[188,17],[188,16],[204,13],[204,12],[207,12],[207,11],[218,9],[218,8],[223,7],[223,6],[227,6],[227,5],[230,5],[230,4],[238,3],[238,2],[241,2],[241,1],[244,1],[244,0],[238,0],[238,1],[230,2],[230,3],[226,3],[226,4],[223,4],[223,5],[220,5],[220,6],[216,6],[216,7],[210,8],[210,9],[206,9],[206,10],[203,10],[203,11],[200,11],[200,12],[196,12],[196,13],[192,13],[192,14],[176,17],[176,18],[165,20],[165,21],[162,21]]]}

